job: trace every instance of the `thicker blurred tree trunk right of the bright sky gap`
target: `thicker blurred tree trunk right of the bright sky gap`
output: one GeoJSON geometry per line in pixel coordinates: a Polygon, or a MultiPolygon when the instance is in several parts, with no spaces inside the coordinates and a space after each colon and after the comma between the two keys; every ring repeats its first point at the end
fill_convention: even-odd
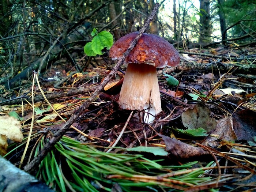
{"type": "Polygon", "coordinates": [[[200,28],[199,42],[210,42],[210,0],[200,0],[200,28]]]}

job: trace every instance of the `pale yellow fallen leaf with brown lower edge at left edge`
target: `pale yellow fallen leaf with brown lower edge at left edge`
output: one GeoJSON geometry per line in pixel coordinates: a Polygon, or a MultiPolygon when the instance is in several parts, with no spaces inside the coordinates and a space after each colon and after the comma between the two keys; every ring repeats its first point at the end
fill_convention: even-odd
{"type": "Polygon", "coordinates": [[[7,153],[7,139],[22,142],[21,122],[14,117],[0,116],[0,154],[7,153]]]}

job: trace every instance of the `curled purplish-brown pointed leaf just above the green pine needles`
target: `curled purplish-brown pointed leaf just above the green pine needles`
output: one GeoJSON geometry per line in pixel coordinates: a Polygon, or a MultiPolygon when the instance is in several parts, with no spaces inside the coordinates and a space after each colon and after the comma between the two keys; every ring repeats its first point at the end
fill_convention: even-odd
{"type": "Polygon", "coordinates": [[[199,147],[181,142],[165,135],[160,135],[165,142],[166,151],[178,159],[187,159],[191,157],[199,157],[201,155],[208,155],[208,152],[199,147]]]}

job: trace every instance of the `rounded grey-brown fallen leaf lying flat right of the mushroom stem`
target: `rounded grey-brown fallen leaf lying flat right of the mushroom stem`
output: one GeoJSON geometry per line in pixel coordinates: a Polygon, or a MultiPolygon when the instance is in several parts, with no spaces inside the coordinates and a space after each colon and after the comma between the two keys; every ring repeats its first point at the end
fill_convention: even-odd
{"type": "Polygon", "coordinates": [[[197,103],[192,109],[182,113],[181,119],[188,129],[203,128],[209,132],[216,126],[215,119],[210,117],[210,110],[202,103],[197,103]]]}

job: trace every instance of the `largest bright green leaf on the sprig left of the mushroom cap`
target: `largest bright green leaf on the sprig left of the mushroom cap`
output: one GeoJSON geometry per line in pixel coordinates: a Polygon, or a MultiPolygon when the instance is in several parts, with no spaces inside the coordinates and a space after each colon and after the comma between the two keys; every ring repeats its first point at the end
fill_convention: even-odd
{"type": "Polygon", "coordinates": [[[94,53],[101,55],[102,49],[110,49],[113,45],[113,35],[108,31],[101,31],[91,41],[91,49],[94,53]]]}

